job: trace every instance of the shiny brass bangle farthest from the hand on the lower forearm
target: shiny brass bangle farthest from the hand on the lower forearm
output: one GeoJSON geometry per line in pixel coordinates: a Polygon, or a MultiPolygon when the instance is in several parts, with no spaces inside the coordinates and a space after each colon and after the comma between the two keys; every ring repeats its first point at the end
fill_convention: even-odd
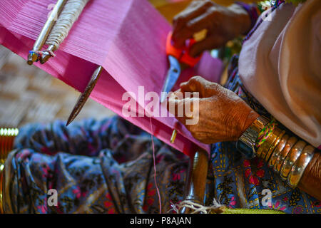
{"type": "Polygon", "coordinates": [[[290,187],[297,187],[297,184],[300,182],[303,172],[305,172],[305,168],[312,160],[314,152],[315,147],[312,147],[312,145],[307,145],[306,147],[304,147],[300,157],[296,160],[289,175],[287,176],[287,184],[290,185],[290,187]]]}

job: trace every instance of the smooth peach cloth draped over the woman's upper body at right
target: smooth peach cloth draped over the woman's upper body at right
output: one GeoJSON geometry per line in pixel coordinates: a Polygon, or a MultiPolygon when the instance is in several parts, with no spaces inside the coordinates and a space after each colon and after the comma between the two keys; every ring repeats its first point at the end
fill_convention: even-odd
{"type": "Polygon", "coordinates": [[[321,1],[308,0],[297,7],[282,4],[273,11],[270,21],[263,21],[245,41],[239,73],[245,88],[267,111],[319,147],[321,1]]]}

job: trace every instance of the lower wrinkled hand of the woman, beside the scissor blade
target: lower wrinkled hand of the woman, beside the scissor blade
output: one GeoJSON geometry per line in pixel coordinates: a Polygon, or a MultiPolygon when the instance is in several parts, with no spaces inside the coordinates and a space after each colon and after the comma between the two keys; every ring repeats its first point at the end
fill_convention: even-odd
{"type": "Polygon", "coordinates": [[[186,120],[195,116],[187,116],[185,113],[183,117],[177,118],[195,139],[207,144],[238,140],[240,135],[258,118],[258,113],[255,113],[238,95],[200,76],[180,84],[180,90],[172,93],[168,98],[168,109],[175,106],[175,110],[178,110],[179,107],[185,107],[188,102],[193,109],[192,113],[198,113],[198,123],[187,125],[186,120]],[[178,92],[183,94],[199,92],[199,98],[192,96],[192,98],[178,99],[178,92]],[[193,105],[193,100],[198,101],[199,105],[193,105]],[[197,106],[198,110],[195,110],[197,106]]]}

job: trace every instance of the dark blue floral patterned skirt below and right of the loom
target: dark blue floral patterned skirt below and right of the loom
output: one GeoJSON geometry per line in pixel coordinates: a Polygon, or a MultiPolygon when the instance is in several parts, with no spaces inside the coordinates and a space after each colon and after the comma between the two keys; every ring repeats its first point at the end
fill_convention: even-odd
{"type": "MultiPolygon", "coordinates": [[[[269,115],[243,88],[238,58],[226,87],[260,114],[269,115]]],[[[189,158],[153,138],[162,212],[183,200],[189,158]]],[[[231,208],[320,213],[321,202],[288,187],[262,160],[246,159],[235,142],[211,147],[205,204],[231,208]],[[264,190],[264,191],[263,191],[264,190]],[[266,203],[265,191],[272,200],[266,203]]],[[[204,170],[206,172],[206,170],[204,170]]],[[[158,213],[151,135],[119,117],[39,123],[21,128],[5,166],[7,213],[158,213]],[[51,191],[57,193],[50,204],[51,191]]]]}

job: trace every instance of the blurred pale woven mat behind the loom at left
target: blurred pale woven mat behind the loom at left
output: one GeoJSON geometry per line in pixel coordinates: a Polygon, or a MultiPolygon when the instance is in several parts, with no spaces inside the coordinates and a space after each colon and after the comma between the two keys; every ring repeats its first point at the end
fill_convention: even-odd
{"type": "MultiPolygon", "coordinates": [[[[79,94],[0,46],[0,128],[67,120],[79,94]]],[[[114,115],[111,110],[88,99],[76,120],[102,119],[111,115],[114,115]]]]}

